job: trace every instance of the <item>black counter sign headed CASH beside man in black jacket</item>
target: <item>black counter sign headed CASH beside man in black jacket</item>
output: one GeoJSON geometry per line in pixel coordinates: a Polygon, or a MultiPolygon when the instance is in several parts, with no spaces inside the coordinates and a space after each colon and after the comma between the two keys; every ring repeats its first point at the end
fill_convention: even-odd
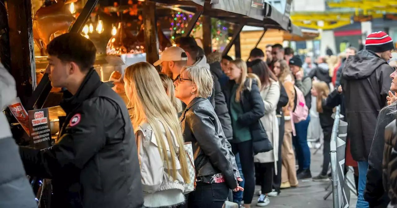
{"type": "Polygon", "coordinates": [[[51,145],[48,108],[28,111],[31,147],[45,149],[51,145]]]}

